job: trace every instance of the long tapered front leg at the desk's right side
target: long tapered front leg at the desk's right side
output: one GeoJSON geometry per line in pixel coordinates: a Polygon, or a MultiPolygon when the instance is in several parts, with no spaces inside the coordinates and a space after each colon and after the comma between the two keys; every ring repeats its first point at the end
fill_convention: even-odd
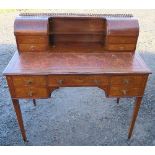
{"type": "Polygon", "coordinates": [[[135,106],[134,106],[134,110],[133,110],[133,114],[132,114],[132,120],[131,120],[131,123],[130,123],[129,132],[128,132],[128,139],[130,139],[131,136],[132,136],[132,131],[133,131],[133,128],[134,128],[134,125],[135,125],[135,122],[136,122],[136,118],[137,118],[138,111],[139,111],[139,108],[140,108],[140,105],[141,105],[141,101],[142,101],[142,97],[137,97],[136,98],[135,106]]]}

